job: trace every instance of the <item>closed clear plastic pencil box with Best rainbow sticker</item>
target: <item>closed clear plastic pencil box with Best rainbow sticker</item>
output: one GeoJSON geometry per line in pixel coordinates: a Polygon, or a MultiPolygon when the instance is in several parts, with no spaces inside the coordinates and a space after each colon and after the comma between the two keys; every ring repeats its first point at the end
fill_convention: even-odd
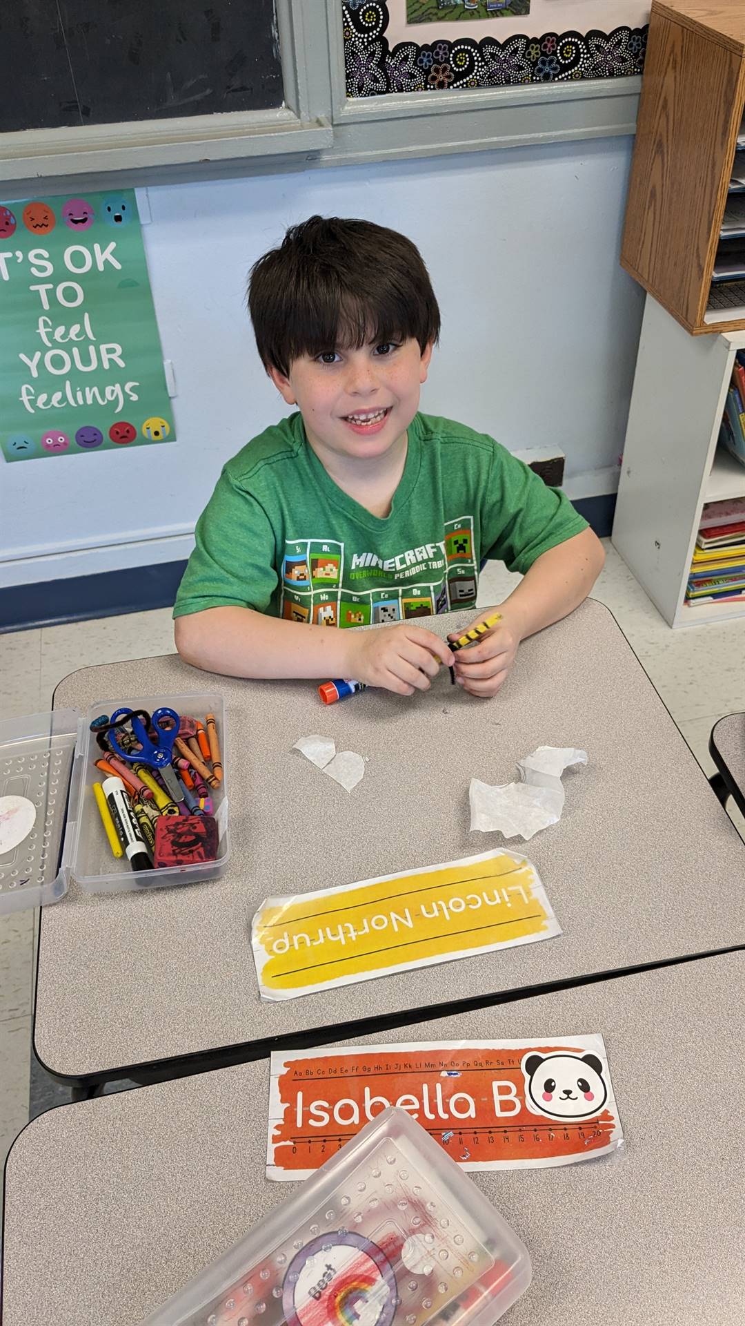
{"type": "Polygon", "coordinates": [[[530,1276],[476,1184],[390,1107],[143,1326],[493,1326],[530,1276]]]}

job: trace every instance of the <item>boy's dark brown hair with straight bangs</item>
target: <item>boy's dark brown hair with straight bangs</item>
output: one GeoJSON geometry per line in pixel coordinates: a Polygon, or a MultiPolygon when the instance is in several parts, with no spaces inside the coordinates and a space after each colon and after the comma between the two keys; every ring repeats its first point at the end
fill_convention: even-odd
{"type": "Polygon", "coordinates": [[[372,221],[310,216],[251,269],[248,309],[264,366],[414,338],[424,353],[440,310],[422,255],[372,221]]]}

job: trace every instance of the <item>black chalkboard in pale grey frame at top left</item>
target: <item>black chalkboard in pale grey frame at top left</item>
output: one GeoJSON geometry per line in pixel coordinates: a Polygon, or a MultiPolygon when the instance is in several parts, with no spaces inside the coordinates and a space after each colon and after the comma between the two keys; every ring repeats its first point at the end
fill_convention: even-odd
{"type": "Polygon", "coordinates": [[[274,109],[274,0],[8,0],[0,86],[0,133],[274,109]]]}

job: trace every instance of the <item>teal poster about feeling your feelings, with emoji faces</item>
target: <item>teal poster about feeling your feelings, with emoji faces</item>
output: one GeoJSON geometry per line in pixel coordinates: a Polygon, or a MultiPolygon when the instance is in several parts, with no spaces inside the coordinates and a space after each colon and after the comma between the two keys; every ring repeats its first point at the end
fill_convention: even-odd
{"type": "Polygon", "coordinates": [[[174,440],[134,190],[0,203],[5,460],[174,440]]]}

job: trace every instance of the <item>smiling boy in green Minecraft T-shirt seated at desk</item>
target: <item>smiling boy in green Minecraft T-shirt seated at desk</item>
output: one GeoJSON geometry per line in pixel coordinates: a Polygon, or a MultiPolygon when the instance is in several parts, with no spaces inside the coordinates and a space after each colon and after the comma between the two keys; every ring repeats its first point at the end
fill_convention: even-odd
{"type": "Polygon", "coordinates": [[[346,676],[399,695],[455,663],[465,691],[494,695],[520,640],[586,598],[603,550],[492,438],[418,412],[440,332],[419,251],[370,221],[312,216],[253,267],[249,312],[298,412],[223,468],[176,597],[179,654],[229,676],[346,676]],[[475,609],[487,558],[524,578],[496,629],[452,654],[416,617],[475,609]],[[349,629],[369,622],[396,625],[349,629]]]}

